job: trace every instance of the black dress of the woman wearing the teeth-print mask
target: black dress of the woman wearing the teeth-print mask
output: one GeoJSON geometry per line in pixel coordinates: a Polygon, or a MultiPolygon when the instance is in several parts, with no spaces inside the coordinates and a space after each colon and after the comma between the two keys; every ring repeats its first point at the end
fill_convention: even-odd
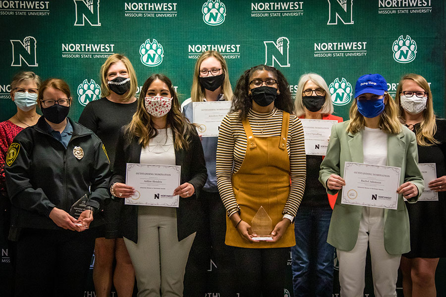
{"type": "MultiPolygon", "coordinates": [[[[79,117],[79,123],[91,129],[102,140],[111,164],[114,162],[119,130],[132,120],[137,106],[138,100],[132,103],[115,103],[107,98],[101,98],[88,103],[79,117]]],[[[105,205],[105,230],[100,232],[98,237],[122,238],[119,231],[122,211],[120,203],[112,199],[105,205]]]]}

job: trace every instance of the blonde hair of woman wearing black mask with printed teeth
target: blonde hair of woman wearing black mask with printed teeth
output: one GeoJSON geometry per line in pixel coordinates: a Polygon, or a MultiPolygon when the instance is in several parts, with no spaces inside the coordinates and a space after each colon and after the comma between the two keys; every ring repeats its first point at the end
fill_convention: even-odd
{"type": "Polygon", "coordinates": [[[104,62],[104,64],[101,66],[101,96],[107,97],[110,96],[111,90],[109,88],[109,80],[107,79],[107,73],[109,72],[110,66],[117,61],[121,61],[124,63],[125,67],[127,68],[128,77],[130,78],[130,89],[124,97],[124,100],[131,100],[135,97],[136,90],[138,88],[138,81],[136,80],[136,73],[135,69],[133,69],[132,63],[130,63],[130,60],[119,53],[113,53],[111,56],[107,58],[107,60],[104,62]]]}

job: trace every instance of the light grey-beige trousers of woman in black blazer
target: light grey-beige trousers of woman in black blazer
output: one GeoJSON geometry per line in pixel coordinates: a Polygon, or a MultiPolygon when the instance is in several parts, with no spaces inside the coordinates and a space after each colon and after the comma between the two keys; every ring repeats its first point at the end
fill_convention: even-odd
{"type": "Polygon", "coordinates": [[[178,242],[176,208],[138,207],[138,243],[124,238],[138,284],[138,297],[182,297],[195,233],[178,242]]]}

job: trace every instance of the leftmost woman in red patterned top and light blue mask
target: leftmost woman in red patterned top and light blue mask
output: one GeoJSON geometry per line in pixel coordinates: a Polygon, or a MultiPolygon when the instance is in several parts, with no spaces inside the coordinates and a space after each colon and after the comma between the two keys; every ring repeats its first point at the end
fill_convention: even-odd
{"type": "Polygon", "coordinates": [[[40,77],[31,71],[17,73],[11,82],[11,99],[17,105],[17,113],[9,120],[0,123],[0,221],[5,238],[9,229],[10,202],[4,184],[4,164],[7,162],[6,152],[14,137],[26,127],[37,123],[40,115],[36,113],[37,90],[42,83],[40,77]]]}

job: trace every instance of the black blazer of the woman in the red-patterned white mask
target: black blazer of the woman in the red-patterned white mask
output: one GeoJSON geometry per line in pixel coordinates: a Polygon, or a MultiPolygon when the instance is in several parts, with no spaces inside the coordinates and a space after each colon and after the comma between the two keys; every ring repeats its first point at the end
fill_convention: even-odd
{"type": "MultiPolygon", "coordinates": [[[[126,163],[140,162],[141,145],[138,144],[138,140],[135,138],[131,141],[127,140],[124,133],[124,129],[121,129],[119,132],[111,184],[116,182],[125,183],[126,163]]],[[[188,150],[175,149],[175,164],[181,166],[181,184],[187,182],[195,188],[195,194],[191,197],[179,198],[179,206],[176,208],[178,241],[196,232],[199,220],[203,219],[197,196],[208,177],[200,138],[196,133],[193,133],[189,136],[189,139],[188,150]]],[[[119,199],[119,202],[122,204],[121,224],[119,226],[121,234],[125,238],[137,243],[138,206],[125,205],[124,199],[115,199],[119,199]]]]}

